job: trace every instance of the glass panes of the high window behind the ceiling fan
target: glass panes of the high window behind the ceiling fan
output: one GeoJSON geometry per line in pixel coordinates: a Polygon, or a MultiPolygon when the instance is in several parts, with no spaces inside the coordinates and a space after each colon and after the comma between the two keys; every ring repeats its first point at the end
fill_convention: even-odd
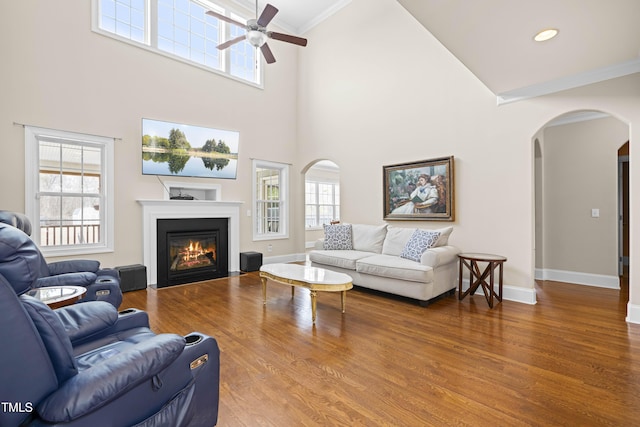
{"type": "Polygon", "coordinates": [[[260,57],[247,41],[218,50],[244,29],[207,10],[246,19],[207,0],[93,0],[94,31],[191,64],[260,84],[260,57]]]}

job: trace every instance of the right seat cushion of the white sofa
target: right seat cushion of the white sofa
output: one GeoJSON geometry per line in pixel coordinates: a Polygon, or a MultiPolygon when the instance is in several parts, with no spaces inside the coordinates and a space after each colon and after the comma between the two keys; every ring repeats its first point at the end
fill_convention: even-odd
{"type": "Polygon", "coordinates": [[[410,282],[433,281],[433,268],[393,255],[371,255],[362,258],[356,263],[356,271],[410,282]]]}

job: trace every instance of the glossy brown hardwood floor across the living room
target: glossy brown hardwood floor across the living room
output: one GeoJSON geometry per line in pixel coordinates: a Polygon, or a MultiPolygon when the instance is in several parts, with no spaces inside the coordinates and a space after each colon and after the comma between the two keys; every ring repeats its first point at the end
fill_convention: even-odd
{"type": "Polygon", "coordinates": [[[423,308],[354,288],[309,293],[257,273],[124,294],[156,332],[221,349],[219,426],[629,426],[640,325],[627,295],[557,282],[536,305],[449,296],[423,308]]]}

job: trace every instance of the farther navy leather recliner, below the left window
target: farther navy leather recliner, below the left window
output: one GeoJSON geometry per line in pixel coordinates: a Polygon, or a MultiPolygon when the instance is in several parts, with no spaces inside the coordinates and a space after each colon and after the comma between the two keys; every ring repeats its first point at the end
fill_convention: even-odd
{"type": "MultiPolygon", "coordinates": [[[[13,226],[22,233],[10,233],[0,229],[0,273],[3,273],[7,266],[11,271],[15,271],[10,265],[13,262],[12,253],[22,250],[34,251],[39,261],[33,264],[34,269],[29,272],[30,277],[33,278],[31,284],[33,288],[59,285],[83,286],[87,289],[87,293],[78,302],[106,301],[115,308],[120,306],[122,291],[117,270],[102,269],[98,261],[86,259],[47,263],[37,245],[33,244],[33,240],[29,237],[31,222],[25,215],[0,210],[0,226],[5,228],[5,224],[13,226]]],[[[6,274],[5,277],[7,277],[6,274]]]]}

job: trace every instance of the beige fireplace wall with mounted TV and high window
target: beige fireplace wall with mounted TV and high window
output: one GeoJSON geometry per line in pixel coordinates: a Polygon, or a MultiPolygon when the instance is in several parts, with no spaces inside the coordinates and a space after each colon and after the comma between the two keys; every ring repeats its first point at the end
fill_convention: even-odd
{"type": "MultiPolygon", "coordinates": [[[[142,262],[141,208],[161,199],[162,185],[141,173],[141,119],[152,118],[240,132],[236,180],[165,178],[222,185],[225,200],[244,201],[240,249],[290,254],[295,240],[253,242],[251,158],[296,160],[299,48],[271,43],[277,62],[265,89],[132,47],[91,31],[90,1],[0,3],[0,198],[2,209],[24,210],[23,128],[13,122],[122,138],[116,142],[115,252],[95,256],[106,266],[142,262]]],[[[292,192],[300,190],[294,180],[292,192]]],[[[295,206],[294,206],[295,207],[295,206]]],[[[292,226],[302,214],[292,211],[292,226]]]]}

